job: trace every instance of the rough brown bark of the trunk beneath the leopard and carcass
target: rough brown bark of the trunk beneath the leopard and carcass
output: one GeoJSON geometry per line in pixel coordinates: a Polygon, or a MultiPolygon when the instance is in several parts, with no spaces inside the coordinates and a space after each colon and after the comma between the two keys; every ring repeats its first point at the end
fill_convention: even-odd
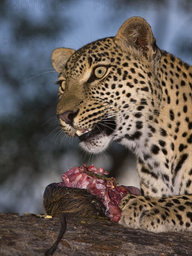
{"type": "MultiPolygon", "coordinates": [[[[57,239],[59,218],[0,214],[0,255],[44,255],[57,239]]],[[[54,256],[182,256],[192,253],[192,233],[154,234],[125,229],[107,219],[68,217],[54,256]]]]}

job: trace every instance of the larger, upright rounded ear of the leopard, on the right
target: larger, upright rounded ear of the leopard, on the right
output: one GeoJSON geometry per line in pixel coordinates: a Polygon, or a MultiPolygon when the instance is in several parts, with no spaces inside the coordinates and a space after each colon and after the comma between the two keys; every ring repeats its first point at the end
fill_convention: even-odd
{"type": "Polygon", "coordinates": [[[141,17],[126,20],[118,30],[116,37],[122,47],[132,46],[141,49],[147,59],[151,59],[157,51],[151,27],[141,17]]]}

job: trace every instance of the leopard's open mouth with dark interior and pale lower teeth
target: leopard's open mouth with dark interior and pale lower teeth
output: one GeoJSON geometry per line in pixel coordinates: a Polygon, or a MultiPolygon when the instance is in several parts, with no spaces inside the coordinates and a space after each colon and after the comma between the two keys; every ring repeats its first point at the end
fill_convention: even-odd
{"type": "Polygon", "coordinates": [[[114,132],[115,127],[116,127],[116,123],[114,120],[110,121],[110,123],[107,122],[107,124],[104,121],[102,121],[95,124],[93,129],[88,128],[83,130],[77,130],[76,134],[80,139],[80,141],[84,141],[90,137],[93,137],[99,134],[110,135],[114,132]]]}

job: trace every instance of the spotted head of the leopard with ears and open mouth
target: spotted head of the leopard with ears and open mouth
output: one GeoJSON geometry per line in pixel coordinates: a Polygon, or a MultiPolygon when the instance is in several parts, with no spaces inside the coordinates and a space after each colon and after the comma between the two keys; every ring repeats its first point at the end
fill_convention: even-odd
{"type": "Polygon", "coordinates": [[[52,53],[58,71],[57,116],[64,132],[78,136],[89,152],[101,152],[110,141],[137,143],[146,116],[158,111],[158,56],[151,27],[140,17],[126,20],[115,37],[94,41],[78,51],[52,53]]]}

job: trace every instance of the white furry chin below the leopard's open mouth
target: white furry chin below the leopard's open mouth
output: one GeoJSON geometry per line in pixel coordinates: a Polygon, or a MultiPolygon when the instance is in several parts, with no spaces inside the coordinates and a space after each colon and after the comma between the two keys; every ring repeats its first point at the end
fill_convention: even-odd
{"type": "Polygon", "coordinates": [[[96,135],[79,143],[80,147],[89,153],[98,154],[108,148],[111,136],[96,135]]]}

